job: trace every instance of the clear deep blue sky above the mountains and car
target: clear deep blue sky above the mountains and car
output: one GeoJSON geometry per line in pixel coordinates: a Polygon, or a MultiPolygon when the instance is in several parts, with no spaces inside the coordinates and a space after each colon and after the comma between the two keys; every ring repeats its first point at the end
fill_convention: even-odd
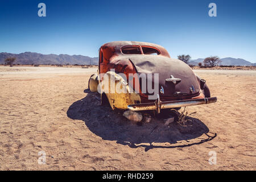
{"type": "Polygon", "coordinates": [[[115,40],[152,42],[189,54],[256,62],[256,1],[0,1],[0,52],[98,56],[115,40]],[[46,17],[38,4],[46,4],[46,17]],[[208,15],[209,3],[217,17],[208,15]]]}

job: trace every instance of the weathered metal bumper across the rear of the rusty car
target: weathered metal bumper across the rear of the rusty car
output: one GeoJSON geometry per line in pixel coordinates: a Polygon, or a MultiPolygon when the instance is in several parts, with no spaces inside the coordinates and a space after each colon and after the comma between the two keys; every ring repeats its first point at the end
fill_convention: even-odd
{"type": "Polygon", "coordinates": [[[191,100],[162,102],[160,101],[160,98],[158,96],[158,99],[156,99],[155,102],[128,105],[127,108],[133,111],[156,110],[158,113],[160,113],[161,109],[171,109],[176,107],[210,104],[216,101],[217,101],[217,97],[208,97],[208,98],[197,98],[197,99],[191,99],[191,100]]]}

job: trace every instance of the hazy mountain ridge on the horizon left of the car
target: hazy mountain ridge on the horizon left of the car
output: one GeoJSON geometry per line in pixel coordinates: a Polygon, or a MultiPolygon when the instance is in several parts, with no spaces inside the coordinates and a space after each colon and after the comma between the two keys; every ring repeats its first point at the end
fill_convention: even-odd
{"type": "Polygon", "coordinates": [[[82,55],[43,55],[36,52],[0,53],[0,64],[5,64],[5,57],[16,57],[14,64],[79,64],[79,65],[97,65],[98,57],[88,57],[82,55]]]}

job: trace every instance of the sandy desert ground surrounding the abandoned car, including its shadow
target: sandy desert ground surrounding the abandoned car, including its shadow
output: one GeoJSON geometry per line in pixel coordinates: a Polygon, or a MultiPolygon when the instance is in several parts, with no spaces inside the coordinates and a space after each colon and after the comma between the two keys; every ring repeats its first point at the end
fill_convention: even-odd
{"type": "Polygon", "coordinates": [[[256,169],[256,71],[195,70],[215,104],[138,126],[88,91],[96,69],[0,67],[1,170],[256,169]],[[38,152],[46,164],[38,164],[38,152]],[[209,152],[217,154],[210,165],[209,152]]]}

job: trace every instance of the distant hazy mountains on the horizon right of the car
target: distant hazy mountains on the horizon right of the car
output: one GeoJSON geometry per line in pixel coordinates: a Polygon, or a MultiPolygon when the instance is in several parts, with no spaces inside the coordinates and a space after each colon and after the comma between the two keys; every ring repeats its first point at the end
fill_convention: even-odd
{"type": "MultiPolygon", "coordinates": [[[[204,63],[204,59],[199,58],[195,60],[190,60],[188,64],[198,65],[199,63],[204,63]]],[[[244,59],[236,59],[233,57],[225,57],[221,59],[220,65],[235,65],[235,66],[256,66],[256,63],[251,63],[250,61],[246,61],[244,59]]]]}

